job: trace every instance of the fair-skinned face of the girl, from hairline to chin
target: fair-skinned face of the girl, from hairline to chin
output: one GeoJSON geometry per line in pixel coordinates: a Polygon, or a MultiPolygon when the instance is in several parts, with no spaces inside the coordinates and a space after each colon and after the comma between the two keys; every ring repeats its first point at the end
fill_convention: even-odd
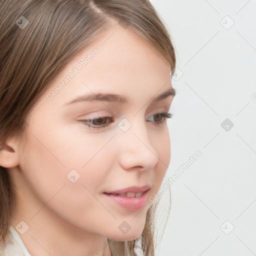
{"type": "Polygon", "coordinates": [[[34,223],[47,216],[114,240],[142,233],[149,196],[160,188],[170,161],[162,113],[173,95],[156,100],[172,88],[169,72],[148,42],[118,25],[67,63],[30,109],[19,151],[18,178],[29,198],[22,210],[36,214],[34,223]],[[126,101],[111,96],[70,103],[97,93],[126,101]],[[125,196],[124,207],[104,194],[145,184],[145,204],[125,196]]]}

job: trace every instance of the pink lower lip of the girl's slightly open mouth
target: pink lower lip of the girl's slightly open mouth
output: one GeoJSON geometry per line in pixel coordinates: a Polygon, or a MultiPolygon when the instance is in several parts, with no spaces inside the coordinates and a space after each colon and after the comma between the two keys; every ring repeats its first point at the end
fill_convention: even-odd
{"type": "Polygon", "coordinates": [[[110,200],[118,203],[120,206],[124,207],[127,210],[139,210],[145,206],[147,191],[148,190],[144,191],[144,193],[138,197],[127,197],[122,195],[111,195],[106,193],[103,193],[103,195],[105,195],[110,200]]]}

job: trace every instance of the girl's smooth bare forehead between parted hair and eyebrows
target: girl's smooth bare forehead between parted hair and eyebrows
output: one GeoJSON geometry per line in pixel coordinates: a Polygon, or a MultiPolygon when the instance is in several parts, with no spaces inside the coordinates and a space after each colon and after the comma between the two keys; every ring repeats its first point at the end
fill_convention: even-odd
{"type": "Polygon", "coordinates": [[[130,28],[115,25],[65,65],[44,97],[53,92],[52,100],[67,102],[85,93],[110,91],[134,97],[147,90],[152,94],[166,83],[164,90],[171,86],[169,71],[169,64],[152,45],[130,28]]]}

